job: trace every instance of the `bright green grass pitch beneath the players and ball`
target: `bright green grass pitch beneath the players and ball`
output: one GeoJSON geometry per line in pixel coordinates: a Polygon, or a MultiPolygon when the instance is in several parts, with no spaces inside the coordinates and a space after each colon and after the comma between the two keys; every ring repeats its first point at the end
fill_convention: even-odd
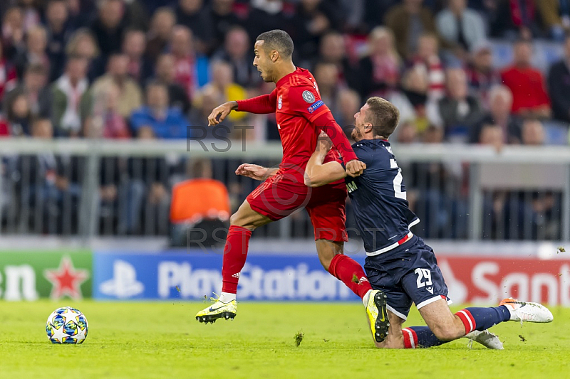
{"type": "MultiPolygon", "coordinates": [[[[373,347],[363,306],[239,303],[234,321],[199,324],[205,303],[0,302],[0,378],[568,378],[570,309],[552,324],[509,322],[492,331],[504,351],[467,339],[430,349],[373,347]],[[52,345],[47,316],[86,314],[83,345],[52,345]],[[297,333],[303,333],[296,347],[297,333]],[[526,341],[522,341],[522,336],[526,341]]],[[[457,310],[455,308],[454,310],[457,310]]],[[[405,326],[423,324],[415,309],[405,326]]]]}

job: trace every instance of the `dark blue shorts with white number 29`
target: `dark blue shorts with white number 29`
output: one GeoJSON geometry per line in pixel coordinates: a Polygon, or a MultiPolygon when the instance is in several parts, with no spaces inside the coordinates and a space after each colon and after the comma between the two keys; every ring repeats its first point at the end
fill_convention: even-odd
{"type": "Polygon", "coordinates": [[[364,269],[372,288],[388,297],[388,310],[401,319],[408,317],[412,303],[418,309],[439,299],[451,304],[435,254],[420,237],[413,236],[393,250],[366,257],[364,269]]]}

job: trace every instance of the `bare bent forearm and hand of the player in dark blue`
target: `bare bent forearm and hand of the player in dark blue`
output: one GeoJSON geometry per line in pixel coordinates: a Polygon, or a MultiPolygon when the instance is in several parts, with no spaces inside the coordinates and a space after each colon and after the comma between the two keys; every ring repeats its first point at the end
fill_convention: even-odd
{"type": "Polygon", "coordinates": [[[305,186],[320,187],[346,177],[346,171],[337,161],[323,164],[326,153],[331,149],[332,143],[328,136],[321,132],[318,137],[316,149],[305,169],[305,186]]]}

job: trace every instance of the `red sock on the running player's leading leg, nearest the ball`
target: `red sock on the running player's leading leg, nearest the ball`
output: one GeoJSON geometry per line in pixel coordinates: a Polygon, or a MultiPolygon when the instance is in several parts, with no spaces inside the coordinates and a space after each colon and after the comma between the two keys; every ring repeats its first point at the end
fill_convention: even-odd
{"type": "Polygon", "coordinates": [[[222,292],[237,293],[239,272],[245,265],[249,237],[252,237],[251,230],[235,225],[229,227],[222,261],[222,292]]]}

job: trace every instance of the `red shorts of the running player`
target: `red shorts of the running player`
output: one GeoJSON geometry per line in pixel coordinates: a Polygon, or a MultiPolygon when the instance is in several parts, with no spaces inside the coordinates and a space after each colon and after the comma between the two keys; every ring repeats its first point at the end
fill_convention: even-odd
{"type": "Polygon", "coordinates": [[[305,208],[313,224],[315,240],[348,240],[343,181],[311,188],[276,175],[261,183],[246,200],[253,210],[274,221],[305,208]]]}

